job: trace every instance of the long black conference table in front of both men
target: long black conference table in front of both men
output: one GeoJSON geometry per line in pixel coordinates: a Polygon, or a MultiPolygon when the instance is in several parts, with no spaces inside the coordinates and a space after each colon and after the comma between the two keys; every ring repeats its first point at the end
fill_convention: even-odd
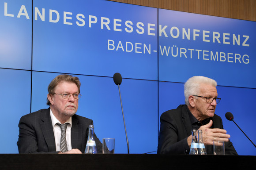
{"type": "Polygon", "coordinates": [[[0,154],[0,170],[256,169],[256,156],[158,154],[0,154]]]}

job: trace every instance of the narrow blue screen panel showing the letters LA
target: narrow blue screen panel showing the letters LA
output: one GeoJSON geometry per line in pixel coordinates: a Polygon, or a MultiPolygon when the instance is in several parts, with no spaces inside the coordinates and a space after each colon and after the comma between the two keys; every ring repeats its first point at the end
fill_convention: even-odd
{"type": "Polygon", "coordinates": [[[31,69],[31,6],[31,0],[0,0],[0,67],[2,68],[31,69]]]}

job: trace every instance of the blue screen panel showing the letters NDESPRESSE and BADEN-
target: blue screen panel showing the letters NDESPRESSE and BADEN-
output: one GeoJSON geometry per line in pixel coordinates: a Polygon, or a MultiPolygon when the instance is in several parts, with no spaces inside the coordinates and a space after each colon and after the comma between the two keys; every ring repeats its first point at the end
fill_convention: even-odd
{"type": "Polygon", "coordinates": [[[33,70],[96,76],[118,70],[126,78],[157,80],[156,8],[105,0],[34,0],[33,6],[45,10],[45,21],[37,14],[33,22],[33,70]]]}

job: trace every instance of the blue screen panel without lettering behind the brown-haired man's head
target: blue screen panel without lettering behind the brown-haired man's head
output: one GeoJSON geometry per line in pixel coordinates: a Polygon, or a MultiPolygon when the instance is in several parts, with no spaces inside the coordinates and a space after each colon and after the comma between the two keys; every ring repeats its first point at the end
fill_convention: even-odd
{"type": "MultiPolygon", "coordinates": [[[[47,87],[56,73],[33,72],[32,112],[45,105],[47,87]]],[[[100,141],[115,138],[115,153],[127,153],[118,86],[112,77],[78,76],[82,98],[77,114],[93,119],[100,141]]],[[[157,81],[123,79],[120,85],[130,153],[156,151],[158,145],[157,81]]]]}

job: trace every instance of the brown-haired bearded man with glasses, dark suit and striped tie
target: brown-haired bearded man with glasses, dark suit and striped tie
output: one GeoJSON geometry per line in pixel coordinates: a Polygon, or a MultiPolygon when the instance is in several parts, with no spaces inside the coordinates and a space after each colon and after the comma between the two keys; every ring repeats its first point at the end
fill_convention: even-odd
{"type": "MultiPolygon", "coordinates": [[[[48,86],[48,109],[22,116],[19,121],[19,153],[84,153],[91,119],[76,115],[80,81],[71,75],[56,76],[48,86]],[[61,140],[61,129],[66,135],[61,140]],[[61,144],[65,141],[65,144],[61,144]],[[62,146],[61,146],[62,145],[62,146]]],[[[102,143],[94,134],[98,152],[102,143]]]]}

